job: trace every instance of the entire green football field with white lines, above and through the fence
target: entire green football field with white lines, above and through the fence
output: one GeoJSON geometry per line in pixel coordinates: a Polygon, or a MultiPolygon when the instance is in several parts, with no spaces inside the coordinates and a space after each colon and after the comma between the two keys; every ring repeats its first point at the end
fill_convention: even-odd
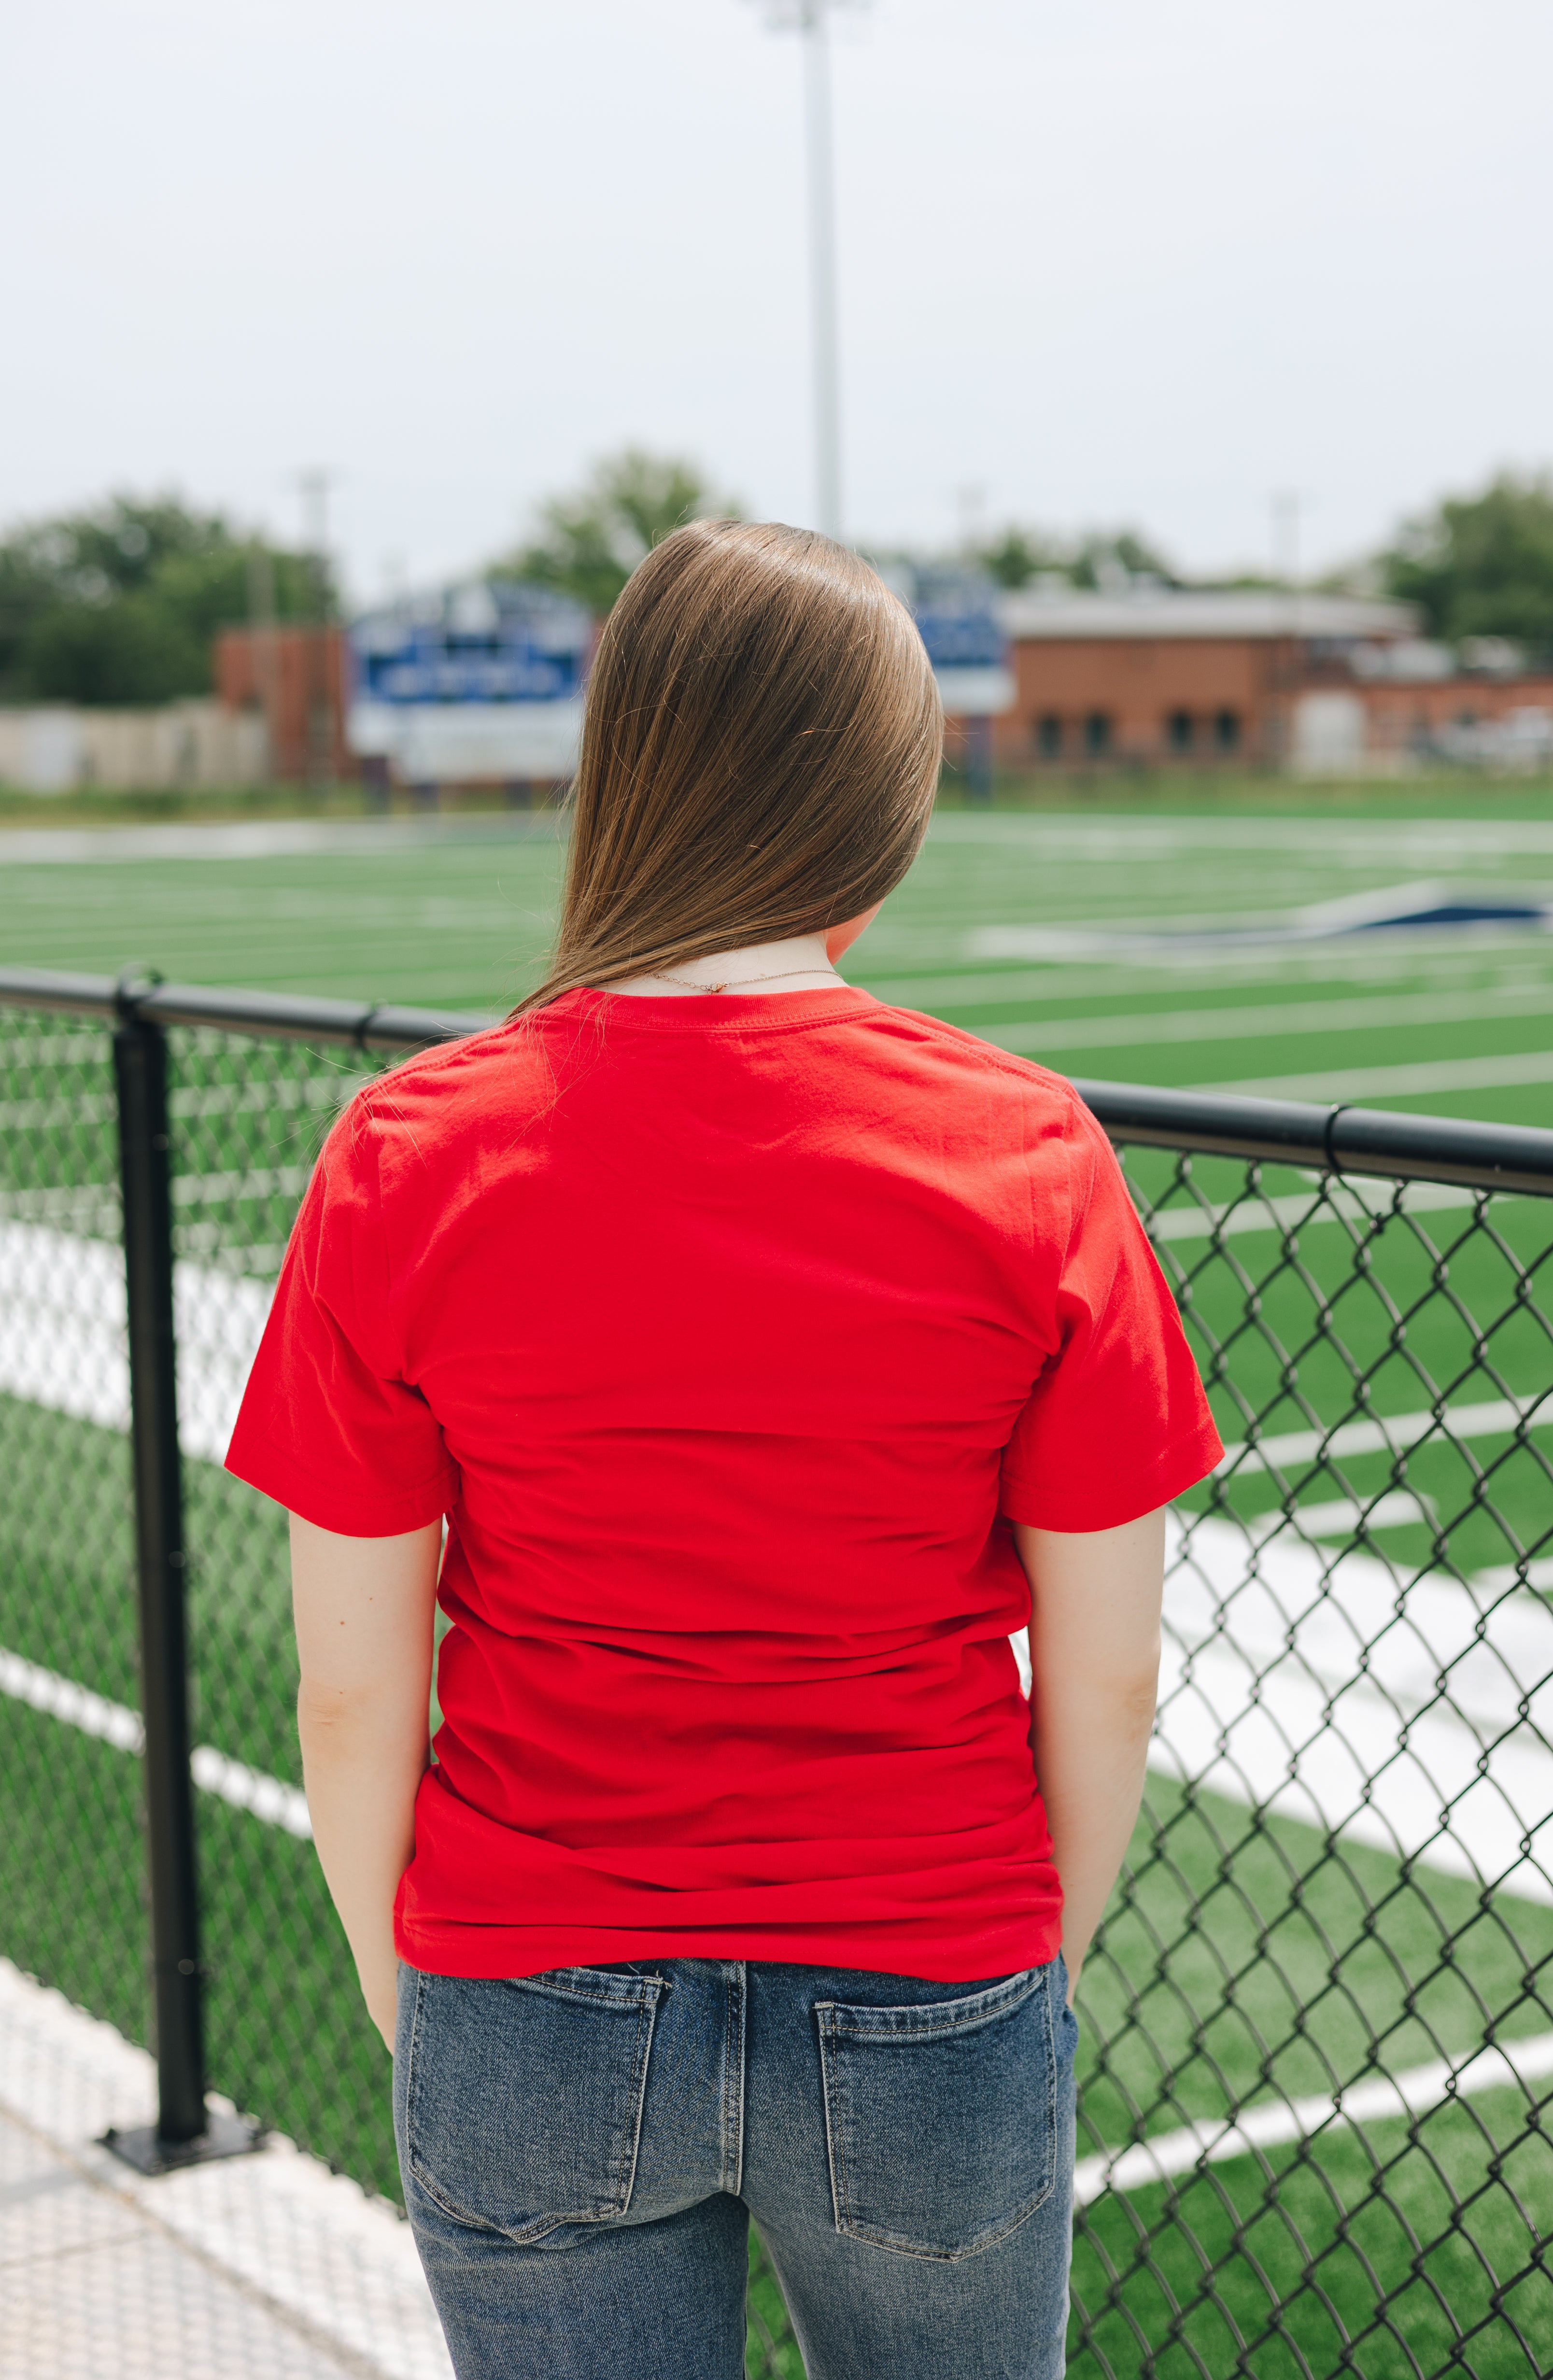
{"type": "MultiPolygon", "coordinates": [[[[498,1016],[534,981],[562,857],[543,816],[214,831],[224,840],[152,833],[119,838],[112,854],[79,838],[0,840],[0,964],[152,964],[183,983],[498,1016]]],[[[1310,814],[948,809],[846,973],[1069,1076],[1548,1126],[1551,923],[1553,797],[1543,816],[1527,802],[1505,816],[1408,816],[1401,793],[1343,814],[1317,802],[1310,814]]],[[[250,1330],[272,1273],[267,1240],[255,1226],[252,1264],[233,1271],[226,1247],[229,1271],[200,1273],[193,1254],[217,1242],[195,1235],[198,1183],[276,1164],[281,1126],[295,1138],[295,1102],[276,1102],[269,1147],[269,1119],[231,1107],[224,1061],[200,1064],[183,1092],[205,1171],[186,1183],[181,1295],[193,1316],[198,1280],[214,1283],[226,1321],[250,1330]]],[[[353,1081],[341,1059],[326,1100],[353,1081]]],[[[17,1076],[17,1114],[26,1088],[17,1076]]],[[[1160,1202],[1165,1261],[1191,1280],[1198,1352],[1234,1349],[1215,1388],[1222,1435],[1246,1449],[1248,1414],[1272,1435],[1241,1452],[1217,1511],[1198,1518],[1172,1606],[1148,1816],[1124,1904],[1086,1973],[1089,2228],[1074,2285],[1091,2311],[1108,2311],[1072,2368],[1086,2380],[1131,2373],[1148,2349],[1170,2380],[1231,2368],[1258,2380],[1339,2368],[1403,2380],[1446,2370],[1470,2335],[1451,2368],[1532,2380],[1553,2368],[1553,2278],[1529,2268],[1534,2242],[1553,2232],[1553,2149],[1529,2118],[1553,2075],[1553,1825],[1539,1837],[1553,1814],[1553,1754],[1539,1733],[1553,1733],[1553,1602],[1534,1592],[1553,1587],[1553,1404],[1536,1402],[1553,1380],[1539,1319],[1553,1202],[1496,1200],[1496,1230],[1484,1233],[1470,1228],[1470,1192],[1422,1185],[1372,1233],[1362,1200],[1317,1207],[1293,1169],[1270,1173],[1260,1204],[1246,1202],[1246,1169],[1231,1161],[1198,1164],[1189,1185],[1162,1152],[1139,1152],[1131,1171],[1160,1202]],[[1286,1349],[1298,1349],[1298,1397],[1286,1349]],[[1348,1421],[1355,1383],[1389,1438],[1348,1421]],[[1410,1430],[1420,1438],[1436,1383],[1455,1438],[1420,1445],[1396,1488],[1393,1449],[1410,1430]],[[1329,1471],[1305,1483],[1310,1414],[1348,1430],[1348,1502],[1334,1499],[1329,1471]],[[1527,1414],[1543,1435],[1513,1445],[1527,1414]],[[1298,1480],[1293,1537],[1274,1447],[1281,1480],[1298,1480]],[[1367,1535],[1351,1547],[1362,1507],[1367,1535]],[[1260,1587],[1246,1595],[1250,1545],[1260,1587]],[[1351,1549],[1334,1561],[1339,1547],[1351,1549]],[[1527,1549],[1532,1587],[1517,1587],[1513,1559],[1527,1549]],[[1403,1590],[1408,1630],[1396,1628],[1403,1590]],[[1398,1711],[1412,1714],[1410,1749],[1386,1766],[1398,1711]],[[1379,1754],[1365,1728],[1379,1730],[1379,1754]],[[1510,1780],[1508,1816],[1489,1806],[1486,1745],[1493,1780],[1510,1780]],[[1351,1775],[1331,1766],[1343,1756],[1351,1775]],[[1446,1792],[1455,1818],[1441,1835],[1446,1792]],[[1482,1873],[1508,1875],[1508,1887],[1484,1894],[1482,1873]],[[1510,2063],[1467,2063],[1486,2028],[1510,2063]],[[1334,2104],[1343,2090],[1348,2113],[1334,2104]],[[1241,2104],[1250,2113],[1224,2132],[1227,2109],[1241,2104]],[[1112,2171],[1112,2152],[1131,2140],[1134,2163],[1112,2171]],[[1193,2173],[1203,2152],[1210,2161],[1193,2173]],[[1396,2292],[1382,2323],[1377,2285],[1396,2292]],[[1255,2351],[1239,2366],[1246,2342],[1255,2351]]],[[[1386,1204],[1389,1188],[1377,1200],[1386,1204]]],[[[5,1226],[17,1264],[64,1245],[60,1233],[43,1247],[33,1209],[5,1214],[26,1219],[5,1226]]],[[[83,1280],[91,1266],[81,1242],[69,1245],[83,1280]]],[[[93,1261],[102,1278],[91,1295],[107,1311],[105,1242],[93,1261]]],[[[5,1649],[21,1656],[10,1685],[0,1676],[19,1730],[12,1773],[31,1780],[31,1823],[71,1873],[79,1814],[114,1811],[91,1847],[100,1873],[64,1914],[83,1973],[100,1906],[121,1911],[131,1933],[138,1923],[124,1759],[133,1642],[102,1609],[107,1592],[124,1592],[124,1564],[91,1554],[121,1530],[121,1390],[110,1385],[88,1409],[55,1385],[57,1349],[95,1345],[98,1307],[76,1297],[50,1309],[40,1352],[7,1359],[0,1378],[12,1478],[0,1507],[0,1668],[5,1649]],[[60,1502],[76,1516],[64,1547],[38,1518],[60,1502]],[[62,1690],[36,1683],[48,1678],[100,1697],[95,1733],[71,1718],[62,1690]]],[[[205,1547],[191,1597],[212,1754],[195,1771],[212,2040],[226,2090],[324,2137],[329,2090],[345,2090],[348,2075],[353,2106],[367,2106],[376,2061],[355,2018],[341,2025],[336,2013],[341,1944],[305,1814],[295,1799],[272,1797],[269,1816],[260,1806],[260,1787],[300,1783],[281,1535],[279,1516],[217,1468],[236,1378],[212,1380],[207,1404],[195,1380],[186,1399],[191,1542],[205,1547]],[[233,2013],[222,1966],[245,1978],[267,2033],[233,2013]]],[[[1208,1495],[1186,1507],[1205,1514],[1208,1495]]],[[[7,1856],[26,1835],[12,1828],[7,1856]]],[[[105,2002],[105,2013],[133,2021],[124,1978],[105,2002]]],[[[381,2123],[353,2113],[350,2125],[341,2137],[355,2171],[388,2185],[381,2123]]],[[[779,2368],[798,2370],[791,2347],[779,2368]]]]}

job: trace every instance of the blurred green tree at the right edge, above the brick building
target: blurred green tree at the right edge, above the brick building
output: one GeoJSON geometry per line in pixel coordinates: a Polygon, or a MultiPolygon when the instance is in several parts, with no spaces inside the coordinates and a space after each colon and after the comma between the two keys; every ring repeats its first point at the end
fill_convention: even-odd
{"type": "Polygon", "coordinates": [[[1432,635],[1505,635],[1553,647],[1553,481],[1501,471],[1482,495],[1446,497],[1403,526],[1382,583],[1424,612],[1432,635]]]}

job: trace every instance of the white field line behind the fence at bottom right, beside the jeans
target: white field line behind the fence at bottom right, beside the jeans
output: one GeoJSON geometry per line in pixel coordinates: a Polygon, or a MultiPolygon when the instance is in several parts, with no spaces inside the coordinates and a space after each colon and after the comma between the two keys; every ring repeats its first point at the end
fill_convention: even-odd
{"type": "Polygon", "coordinates": [[[1474,2092],[1522,2090],[1536,2102],[1532,2085],[1546,2082],[1548,2075],[1553,2075],[1553,2033],[1536,2033],[1498,2049],[1479,2049],[1460,2066],[1434,2059],[1429,2066],[1374,2075],[1348,2090],[1241,2109],[1234,2123],[1184,2123],[1177,2132],[1155,2132],[1153,2140],[1139,2140],[1129,2149],[1079,2159],[1074,2202],[1089,2206],[1105,2190],[1146,2190],[1150,2182],[1167,2182],[1177,2173],[1217,2166],[1229,2156],[1255,2156],[1291,2140],[1310,2140],[1339,2123],[1422,2116],[1446,2099],[1470,2099],[1474,2092]]]}

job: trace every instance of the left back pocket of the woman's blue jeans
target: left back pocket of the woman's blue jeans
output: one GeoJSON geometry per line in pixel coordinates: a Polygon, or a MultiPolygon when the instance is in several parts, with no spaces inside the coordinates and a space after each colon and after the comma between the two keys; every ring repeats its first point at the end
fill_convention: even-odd
{"type": "Polygon", "coordinates": [[[460,2223],[531,2244],[626,2213],[662,1975],[414,1975],[400,2159],[460,2223]]]}

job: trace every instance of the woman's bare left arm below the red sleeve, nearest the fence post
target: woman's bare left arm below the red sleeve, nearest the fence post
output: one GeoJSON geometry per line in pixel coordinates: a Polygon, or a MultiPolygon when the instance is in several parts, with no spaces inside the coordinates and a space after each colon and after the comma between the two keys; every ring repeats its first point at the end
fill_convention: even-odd
{"type": "Polygon", "coordinates": [[[367,2013],[393,2049],[393,1894],[414,1849],[426,1768],[431,1606],[441,1521],[405,1537],[336,1537],[291,1516],[298,1735],[312,1837],[355,1952],[367,2013]]]}

